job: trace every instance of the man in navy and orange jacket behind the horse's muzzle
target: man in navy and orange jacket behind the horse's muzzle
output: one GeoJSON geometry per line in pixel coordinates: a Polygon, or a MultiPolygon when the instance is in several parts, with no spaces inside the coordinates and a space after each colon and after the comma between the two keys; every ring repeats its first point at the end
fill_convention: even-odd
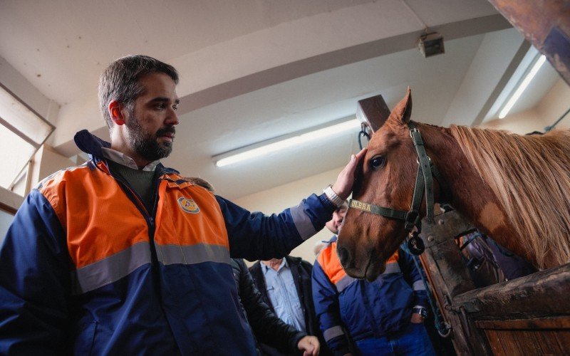
{"type": "Polygon", "coordinates": [[[348,276],[336,254],[344,204],[326,223],[335,234],[316,258],[313,300],[335,355],[435,355],[423,321],[427,293],[412,256],[398,248],[373,282],[348,276]]]}

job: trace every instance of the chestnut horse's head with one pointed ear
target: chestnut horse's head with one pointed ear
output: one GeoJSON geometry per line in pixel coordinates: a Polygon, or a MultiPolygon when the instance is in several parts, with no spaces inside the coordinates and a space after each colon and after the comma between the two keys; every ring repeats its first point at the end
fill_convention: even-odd
{"type": "MultiPolygon", "coordinates": [[[[408,88],[405,98],[368,143],[353,199],[403,211],[410,209],[418,170],[418,156],[408,129],[411,110],[408,88]]],[[[375,280],[407,234],[403,221],[348,209],[337,244],[343,268],[354,278],[375,280]]]]}

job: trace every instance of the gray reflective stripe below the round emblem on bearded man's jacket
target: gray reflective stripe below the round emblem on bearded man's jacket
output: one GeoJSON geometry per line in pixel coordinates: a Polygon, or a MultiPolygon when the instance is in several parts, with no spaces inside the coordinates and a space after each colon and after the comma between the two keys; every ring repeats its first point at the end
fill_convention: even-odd
{"type": "Polygon", "coordinates": [[[192,246],[155,245],[158,261],[165,265],[202,262],[229,263],[229,250],[224,246],[197,244],[192,246]]]}

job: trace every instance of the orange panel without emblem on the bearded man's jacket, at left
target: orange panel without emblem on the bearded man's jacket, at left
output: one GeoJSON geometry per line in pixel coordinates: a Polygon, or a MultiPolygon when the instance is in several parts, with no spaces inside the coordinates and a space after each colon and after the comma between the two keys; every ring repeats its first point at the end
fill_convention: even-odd
{"type": "Polygon", "coordinates": [[[87,165],[66,169],[44,181],[39,190],[66,231],[76,268],[148,241],[144,217],[115,179],[100,169],[87,165]]]}

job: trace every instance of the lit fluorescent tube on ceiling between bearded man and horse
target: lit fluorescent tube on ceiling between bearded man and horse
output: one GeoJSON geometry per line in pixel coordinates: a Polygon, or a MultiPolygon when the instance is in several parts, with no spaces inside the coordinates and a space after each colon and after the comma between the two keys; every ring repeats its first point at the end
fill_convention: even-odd
{"type": "Polygon", "coordinates": [[[305,142],[320,140],[325,137],[337,135],[341,132],[349,130],[360,129],[361,122],[358,119],[351,119],[343,121],[335,121],[331,125],[328,123],[326,126],[313,127],[309,130],[294,132],[289,135],[276,137],[273,140],[259,142],[254,145],[242,147],[238,150],[232,150],[212,157],[217,167],[224,167],[229,164],[242,162],[246,159],[260,157],[262,155],[269,155],[272,152],[284,150],[286,148],[304,144],[305,142]]]}

